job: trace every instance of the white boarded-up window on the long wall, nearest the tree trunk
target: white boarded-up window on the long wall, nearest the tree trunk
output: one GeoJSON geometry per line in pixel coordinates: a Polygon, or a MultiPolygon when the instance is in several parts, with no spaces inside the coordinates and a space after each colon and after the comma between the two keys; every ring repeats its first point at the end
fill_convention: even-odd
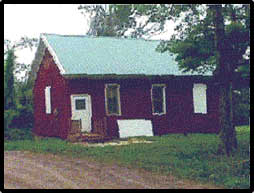
{"type": "Polygon", "coordinates": [[[206,88],[205,84],[193,85],[194,113],[207,113],[206,88]]]}

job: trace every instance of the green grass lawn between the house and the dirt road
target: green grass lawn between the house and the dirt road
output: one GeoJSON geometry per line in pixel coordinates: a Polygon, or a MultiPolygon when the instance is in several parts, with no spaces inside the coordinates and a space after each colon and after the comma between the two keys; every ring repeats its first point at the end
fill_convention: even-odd
{"type": "Polygon", "coordinates": [[[142,138],[153,143],[84,147],[45,138],[5,141],[4,150],[89,156],[98,161],[143,168],[225,188],[250,188],[249,126],[237,127],[238,150],[232,157],[218,154],[220,140],[216,134],[169,134],[142,138]]]}

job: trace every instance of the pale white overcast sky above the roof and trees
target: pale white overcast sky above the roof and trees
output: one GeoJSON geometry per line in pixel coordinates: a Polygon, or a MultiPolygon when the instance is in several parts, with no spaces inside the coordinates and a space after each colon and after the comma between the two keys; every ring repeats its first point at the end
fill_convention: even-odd
{"type": "MultiPolygon", "coordinates": [[[[4,39],[18,41],[22,36],[39,38],[41,33],[85,35],[89,28],[88,17],[77,9],[78,4],[5,4],[4,39]]],[[[168,39],[167,32],[152,39],[168,39]]],[[[17,62],[31,64],[36,50],[17,51],[17,62]]]]}

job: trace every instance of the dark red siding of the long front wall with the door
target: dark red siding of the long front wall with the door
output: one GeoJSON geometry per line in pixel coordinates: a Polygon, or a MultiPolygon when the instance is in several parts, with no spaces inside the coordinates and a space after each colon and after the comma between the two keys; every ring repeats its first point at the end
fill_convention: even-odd
{"type": "MultiPolygon", "coordinates": [[[[166,84],[166,114],[152,115],[151,87],[156,81],[148,80],[71,80],[70,93],[91,95],[92,116],[106,117],[105,84],[120,85],[121,116],[107,116],[108,134],[119,137],[117,119],[152,120],[154,133],[218,132],[218,96],[216,89],[208,85],[207,114],[194,114],[193,82],[171,82],[166,84]]],[[[162,82],[159,82],[162,83],[162,82]]]]}

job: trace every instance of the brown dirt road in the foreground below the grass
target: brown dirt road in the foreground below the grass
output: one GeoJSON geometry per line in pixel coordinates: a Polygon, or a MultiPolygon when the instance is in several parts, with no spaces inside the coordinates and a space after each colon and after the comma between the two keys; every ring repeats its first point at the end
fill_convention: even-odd
{"type": "Polygon", "coordinates": [[[4,152],[5,189],[215,188],[84,158],[4,152]]]}

